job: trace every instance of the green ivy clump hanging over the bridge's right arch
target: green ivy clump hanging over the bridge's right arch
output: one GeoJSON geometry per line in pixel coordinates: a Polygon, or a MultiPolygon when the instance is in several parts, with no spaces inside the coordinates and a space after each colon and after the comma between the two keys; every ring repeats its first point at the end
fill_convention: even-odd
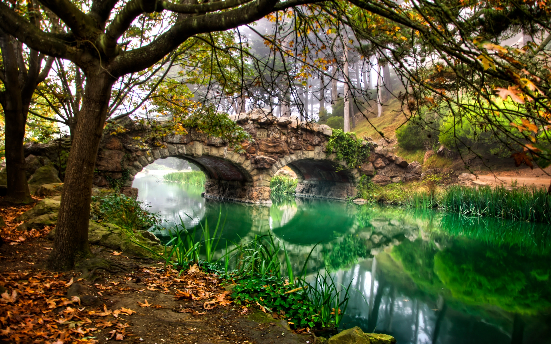
{"type": "MultiPolygon", "coordinates": [[[[359,167],[368,158],[371,146],[364,144],[363,140],[356,137],[355,133],[345,133],[343,130],[333,130],[329,143],[328,152],[335,152],[337,160],[346,161],[348,168],[359,167]]],[[[337,171],[344,170],[343,166],[337,166],[337,171]]]]}

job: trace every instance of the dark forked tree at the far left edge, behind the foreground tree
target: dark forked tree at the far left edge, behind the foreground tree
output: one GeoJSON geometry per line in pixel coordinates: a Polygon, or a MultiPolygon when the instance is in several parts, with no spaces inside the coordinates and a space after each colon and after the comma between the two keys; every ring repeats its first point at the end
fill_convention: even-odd
{"type": "MultiPolygon", "coordinates": [[[[36,2],[29,1],[20,10],[20,13],[25,14],[27,18],[26,25],[32,30],[39,30],[42,24],[38,7],[36,2]]],[[[2,105],[6,122],[4,133],[8,182],[6,201],[29,203],[32,199],[25,176],[23,153],[25,124],[36,86],[46,79],[53,58],[46,58],[38,49],[24,46],[10,32],[12,31],[0,29],[0,50],[2,51],[0,82],[3,86],[0,89],[0,105],[2,105]]]]}

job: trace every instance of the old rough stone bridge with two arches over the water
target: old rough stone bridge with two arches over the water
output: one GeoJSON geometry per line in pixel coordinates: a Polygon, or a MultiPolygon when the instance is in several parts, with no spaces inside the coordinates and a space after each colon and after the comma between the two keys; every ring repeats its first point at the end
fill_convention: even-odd
{"type": "MultiPolygon", "coordinates": [[[[165,136],[161,144],[166,148],[159,148],[134,139],[143,136],[147,128],[129,118],[121,119],[118,124],[127,131],[106,134],[101,140],[94,186],[110,187],[116,183],[128,193],[134,176],[143,167],[169,156],[188,160],[201,168],[207,176],[205,197],[247,203],[269,203],[270,181],[286,165],[299,178],[296,193],[301,196],[355,198],[360,174],[374,174],[371,162],[366,162],[361,169],[336,171],[335,164],[345,166],[345,162],[334,161],[335,154],[327,152],[328,138],[332,134],[327,125],[300,122],[295,117],[277,118],[266,110],[252,110],[231,116],[231,119],[254,139],[252,143],[241,143],[245,152],[237,153],[222,139],[209,138],[193,129],[188,129],[186,135],[165,136]]],[[[370,160],[375,163],[374,157],[370,160]]],[[[399,170],[408,165],[385,161],[399,170]]],[[[387,179],[391,181],[390,177],[387,179]]]]}

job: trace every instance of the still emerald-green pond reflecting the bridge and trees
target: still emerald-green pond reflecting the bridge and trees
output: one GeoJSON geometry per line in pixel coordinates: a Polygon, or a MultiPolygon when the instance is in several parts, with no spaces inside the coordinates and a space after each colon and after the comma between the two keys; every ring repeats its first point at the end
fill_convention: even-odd
{"type": "MultiPolygon", "coordinates": [[[[551,238],[544,225],[322,199],[271,206],[207,200],[202,188],[137,176],[168,221],[215,223],[232,242],[271,231],[299,270],[352,282],[341,325],[406,343],[551,343],[551,238]]],[[[156,233],[161,240],[167,231],[156,233]]],[[[225,243],[220,242],[219,247],[225,243]]],[[[221,254],[221,253],[220,253],[221,254]]]]}

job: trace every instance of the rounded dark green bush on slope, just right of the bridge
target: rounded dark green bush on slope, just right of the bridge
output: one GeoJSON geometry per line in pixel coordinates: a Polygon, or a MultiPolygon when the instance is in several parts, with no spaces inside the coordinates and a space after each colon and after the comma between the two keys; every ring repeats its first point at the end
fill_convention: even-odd
{"type": "MultiPolygon", "coordinates": [[[[439,125],[436,125],[437,127],[439,125]]],[[[437,129],[432,129],[426,124],[423,125],[415,119],[410,120],[406,125],[402,125],[396,130],[398,146],[408,151],[434,148],[438,143],[438,135],[439,131],[437,129]]]]}

